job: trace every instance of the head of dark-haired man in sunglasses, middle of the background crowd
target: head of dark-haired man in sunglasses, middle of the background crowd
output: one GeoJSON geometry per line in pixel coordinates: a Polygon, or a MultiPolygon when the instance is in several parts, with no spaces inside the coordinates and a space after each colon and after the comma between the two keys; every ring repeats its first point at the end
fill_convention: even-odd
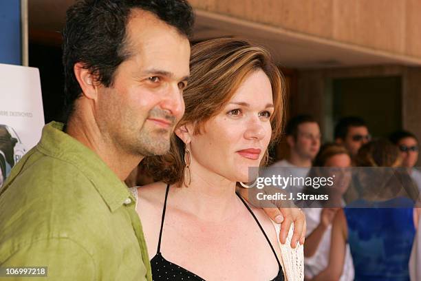
{"type": "Polygon", "coordinates": [[[334,129],[335,143],[345,146],[352,157],[371,139],[367,124],[362,118],[348,116],[342,118],[334,129]]]}

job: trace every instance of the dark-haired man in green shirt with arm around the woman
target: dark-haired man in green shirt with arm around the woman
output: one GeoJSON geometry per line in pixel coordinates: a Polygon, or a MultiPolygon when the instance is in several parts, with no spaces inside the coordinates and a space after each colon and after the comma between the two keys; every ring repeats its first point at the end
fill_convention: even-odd
{"type": "MultiPolygon", "coordinates": [[[[184,113],[192,26],[184,0],[85,0],[69,8],[67,122],[45,125],[0,191],[1,267],[47,267],[51,280],[151,280],[123,180],[144,156],[169,149],[184,113]]],[[[303,215],[283,216],[284,236],[296,220],[298,240],[303,215]]]]}

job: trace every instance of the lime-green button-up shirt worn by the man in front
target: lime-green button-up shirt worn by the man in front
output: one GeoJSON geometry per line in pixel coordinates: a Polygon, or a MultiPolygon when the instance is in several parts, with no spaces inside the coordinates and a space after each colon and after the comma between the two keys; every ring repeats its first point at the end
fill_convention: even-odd
{"type": "Polygon", "coordinates": [[[0,267],[35,266],[48,278],[28,280],[151,280],[135,198],[62,123],[0,189],[0,267]]]}

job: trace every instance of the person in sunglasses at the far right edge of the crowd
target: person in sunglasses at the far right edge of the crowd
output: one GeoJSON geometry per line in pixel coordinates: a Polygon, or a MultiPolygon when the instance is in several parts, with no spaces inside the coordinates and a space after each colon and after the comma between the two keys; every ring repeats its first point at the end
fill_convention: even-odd
{"type": "Polygon", "coordinates": [[[413,133],[402,130],[393,132],[393,134],[389,136],[389,140],[398,146],[400,156],[402,157],[402,167],[409,169],[412,180],[421,191],[421,171],[415,169],[415,164],[418,161],[418,152],[420,150],[418,138],[413,133]]]}

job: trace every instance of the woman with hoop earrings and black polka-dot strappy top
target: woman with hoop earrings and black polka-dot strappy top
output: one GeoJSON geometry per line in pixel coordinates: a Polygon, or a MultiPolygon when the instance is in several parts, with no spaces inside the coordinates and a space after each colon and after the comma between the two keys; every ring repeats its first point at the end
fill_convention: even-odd
{"type": "Polygon", "coordinates": [[[144,160],[160,182],[138,188],[154,280],[303,279],[303,247],[280,247],[279,229],[235,192],[281,132],[282,90],[268,52],[248,41],[192,48],[171,151],[144,160]]]}

